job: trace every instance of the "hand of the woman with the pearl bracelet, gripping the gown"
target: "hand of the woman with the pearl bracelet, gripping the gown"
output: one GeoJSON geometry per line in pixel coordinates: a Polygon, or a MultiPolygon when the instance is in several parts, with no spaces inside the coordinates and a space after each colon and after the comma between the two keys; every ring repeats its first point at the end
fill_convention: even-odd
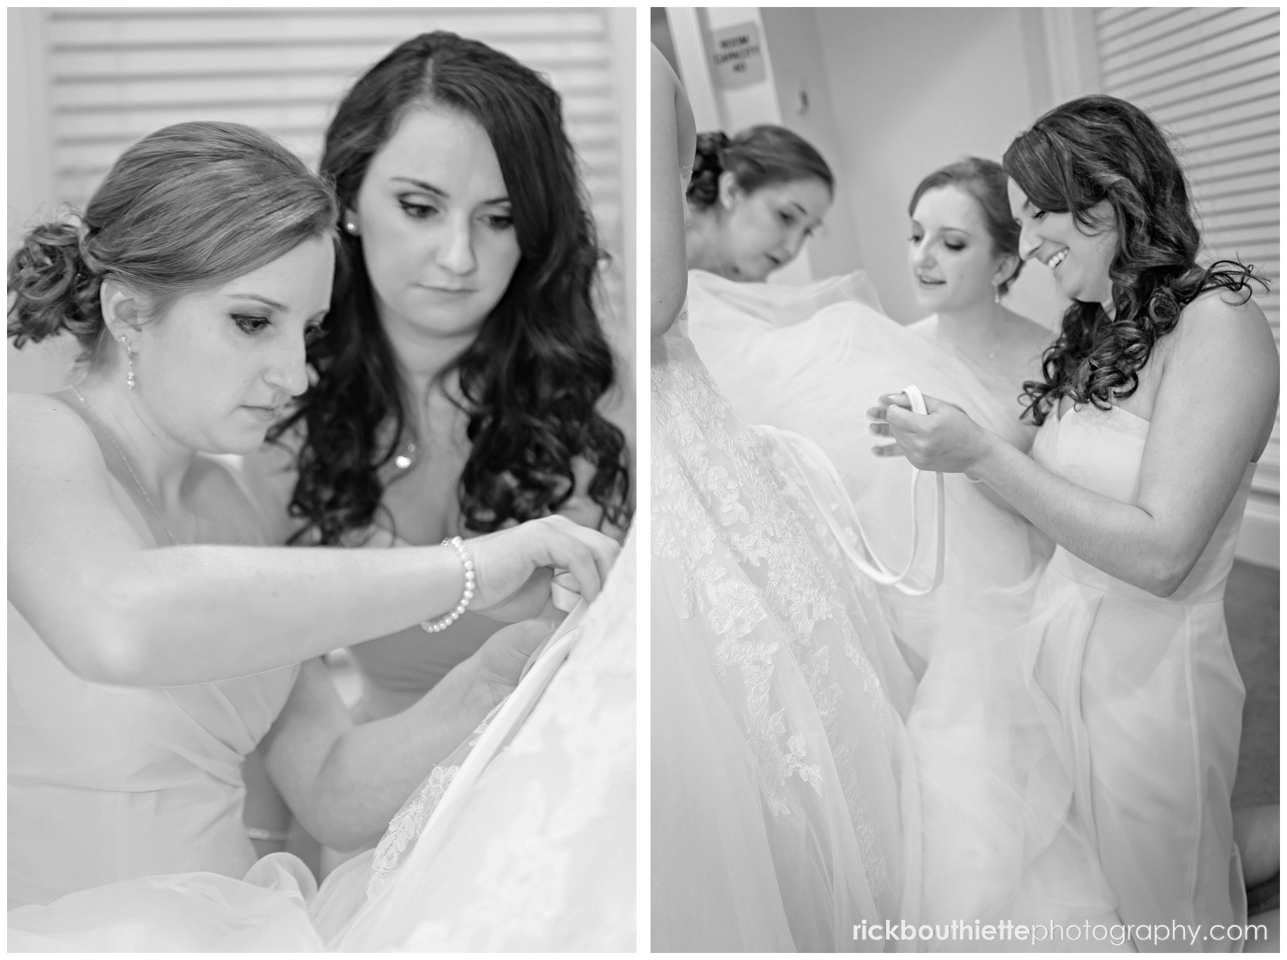
{"type": "Polygon", "coordinates": [[[620,551],[613,538],[562,516],[475,537],[467,548],[474,556],[474,610],[502,622],[539,614],[550,601],[556,570],[569,571],[578,592],[593,600],[620,551]]]}

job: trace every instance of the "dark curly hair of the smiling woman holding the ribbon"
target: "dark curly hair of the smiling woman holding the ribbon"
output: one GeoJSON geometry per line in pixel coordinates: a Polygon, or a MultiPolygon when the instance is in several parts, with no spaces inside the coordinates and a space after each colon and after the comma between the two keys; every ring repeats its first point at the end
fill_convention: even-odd
{"type": "Polygon", "coordinates": [[[1024,416],[1039,426],[1062,396],[1100,409],[1139,387],[1139,371],[1181,310],[1210,290],[1268,288],[1250,265],[1197,263],[1201,238],[1189,192],[1165,134],[1139,107],[1116,97],[1069,100],[1037,120],[1005,151],[1005,171],[1046,212],[1071,212],[1091,235],[1106,229],[1091,207],[1107,201],[1117,228],[1108,266],[1113,315],[1075,301],[1042,356],[1044,380],[1028,381],[1024,416]]]}

